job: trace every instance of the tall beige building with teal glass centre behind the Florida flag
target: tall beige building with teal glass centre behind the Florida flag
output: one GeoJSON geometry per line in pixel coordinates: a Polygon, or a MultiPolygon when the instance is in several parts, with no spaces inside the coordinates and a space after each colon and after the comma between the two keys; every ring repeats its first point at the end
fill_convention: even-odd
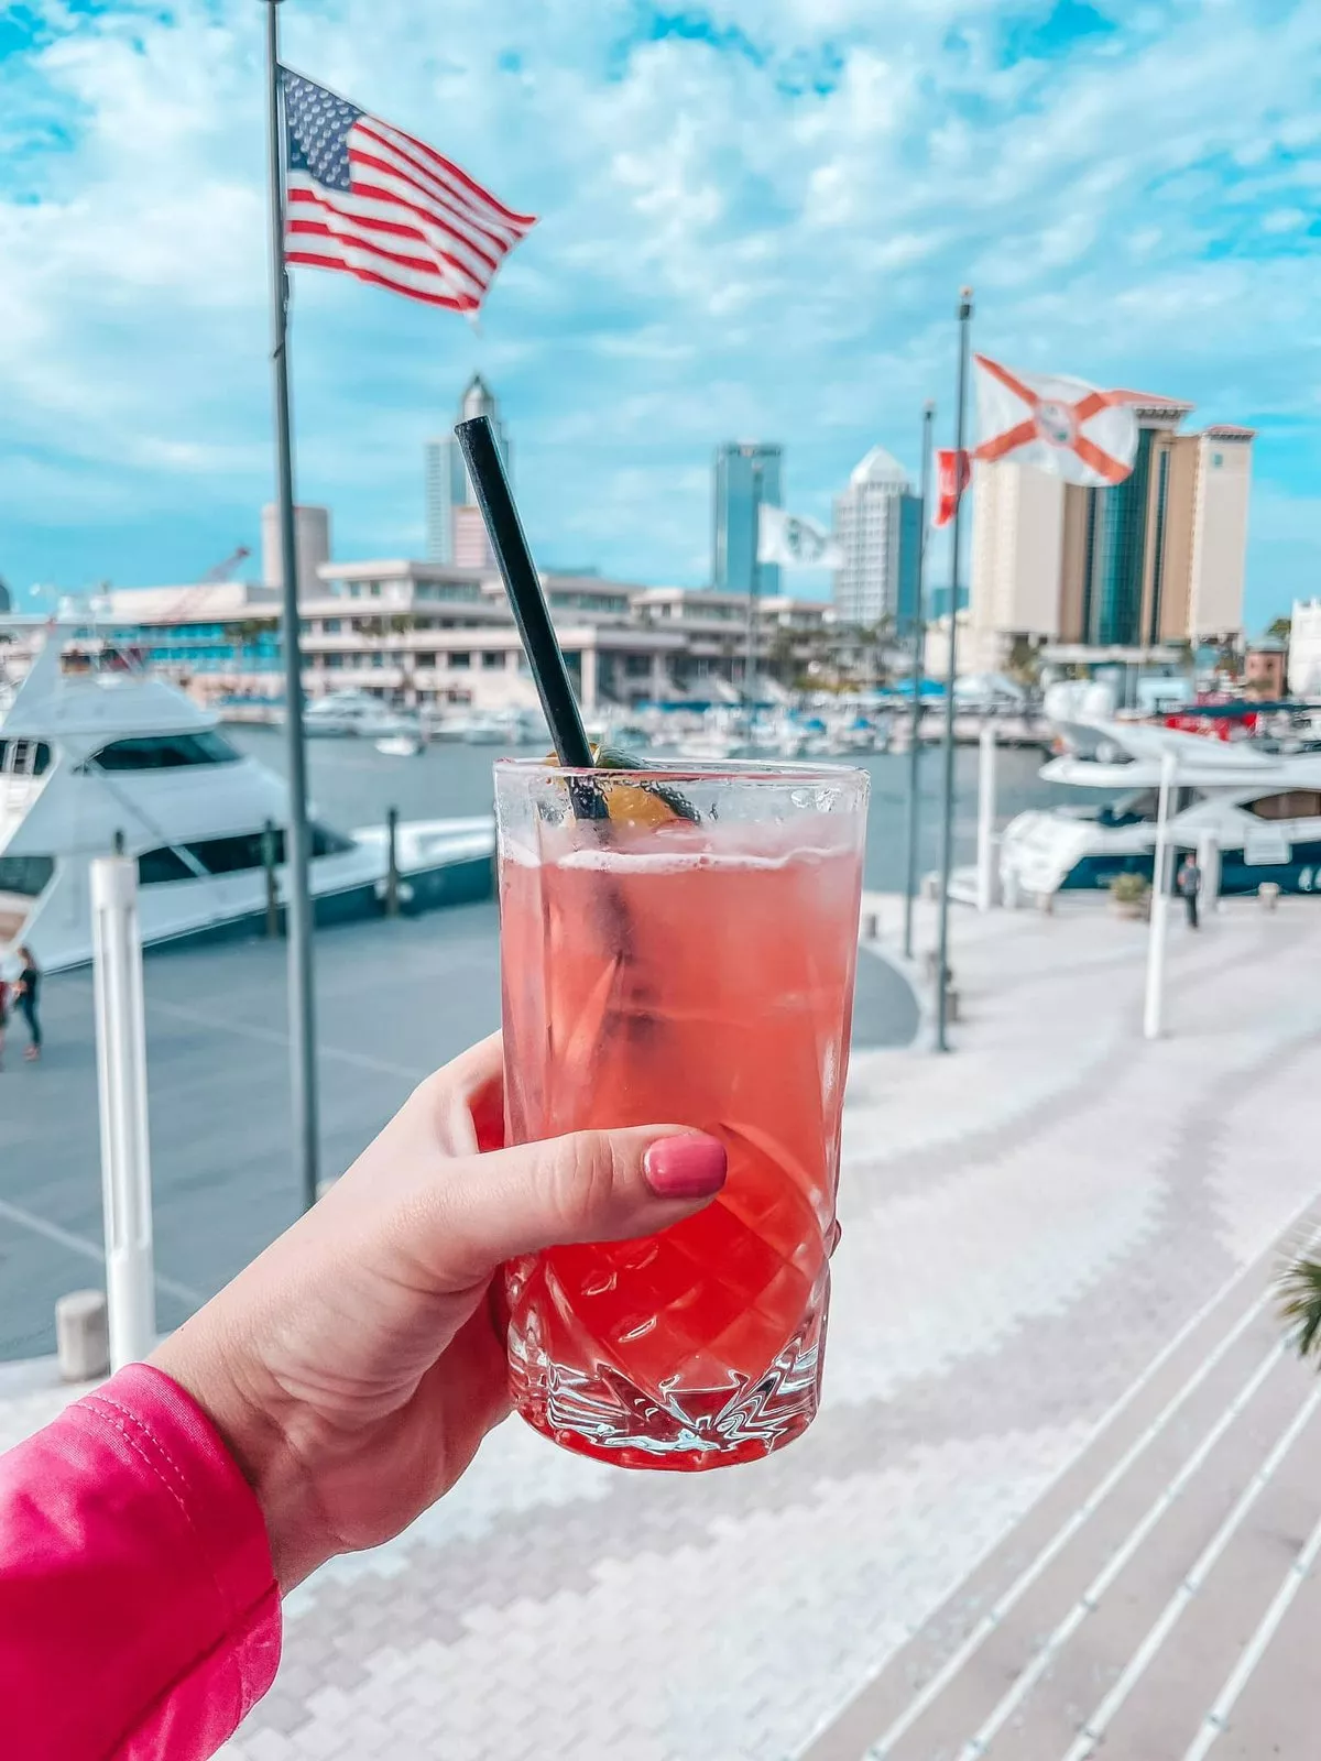
{"type": "Polygon", "coordinates": [[[1115,488],[974,467],[969,669],[1004,666],[1023,641],[1136,652],[1242,632],[1254,433],[1182,433],[1191,412],[1143,402],[1115,488]]]}

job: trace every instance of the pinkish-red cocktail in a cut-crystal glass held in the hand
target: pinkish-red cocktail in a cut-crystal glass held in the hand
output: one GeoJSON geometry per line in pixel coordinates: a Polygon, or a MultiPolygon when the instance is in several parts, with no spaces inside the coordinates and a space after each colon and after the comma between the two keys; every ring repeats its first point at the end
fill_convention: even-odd
{"type": "Polygon", "coordinates": [[[821,1388],[867,775],[507,763],[497,812],[509,1141],[673,1120],[729,1155],[666,1234],[511,1263],[514,1402],[625,1467],[763,1456],[821,1388]]]}

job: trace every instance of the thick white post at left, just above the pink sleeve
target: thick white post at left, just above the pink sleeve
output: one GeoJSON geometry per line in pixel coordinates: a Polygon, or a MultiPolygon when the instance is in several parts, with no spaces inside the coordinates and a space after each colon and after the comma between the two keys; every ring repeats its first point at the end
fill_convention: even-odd
{"type": "Polygon", "coordinates": [[[118,1370],[125,1363],[139,1363],[157,1342],[143,937],[137,925],[137,863],[132,858],[99,856],[92,863],[92,946],[106,1301],[111,1370],[118,1370]]]}

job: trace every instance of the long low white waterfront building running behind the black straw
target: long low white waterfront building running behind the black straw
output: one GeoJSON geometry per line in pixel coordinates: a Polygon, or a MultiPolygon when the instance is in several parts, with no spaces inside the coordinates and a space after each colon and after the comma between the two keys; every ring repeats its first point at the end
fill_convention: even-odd
{"type": "MultiPolygon", "coordinates": [[[[731,701],[747,666],[747,595],[646,588],[594,574],[542,578],[574,687],[588,713],[645,701],[731,701]]],[[[299,599],[310,697],[366,690],[391,703],[530,708],[535,687],[493,572],[382,558],[322,564],[299,599]]],[[[32,620],[33,629],[39,620],[32,620]]],[[[280,604],[268,586],[118,588],[99,632],[204,703],[277,701],[280,604]]],[[[756,604],[759,674],[810,676],[838,648],[828,604],[756,604]]],[[[842,653],[842,650],[840,650],[842,653]]]]}

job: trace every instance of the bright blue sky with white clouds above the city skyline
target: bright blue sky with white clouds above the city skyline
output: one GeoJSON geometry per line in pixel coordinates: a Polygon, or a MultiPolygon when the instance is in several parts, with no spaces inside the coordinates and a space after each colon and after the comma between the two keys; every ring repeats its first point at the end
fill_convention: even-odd
{"type": "MultiPolygon", "coordinates": [[[[541,560],[701,583],[710,456],[828,516],[948,444],[953,303],[1016,366],[1259,430],[1249,622],[1321,592],[1321,5],[285,0],[285,60],[542,224],[481,333],[296,271],[298,486],[417,553],[500,396],[541,560]]],[[[269,495],[262,9],[0,0],[0,574],[196,579],[269,495]]],[[[939,564],[937,564],[939,567],[939,564]]]]}

